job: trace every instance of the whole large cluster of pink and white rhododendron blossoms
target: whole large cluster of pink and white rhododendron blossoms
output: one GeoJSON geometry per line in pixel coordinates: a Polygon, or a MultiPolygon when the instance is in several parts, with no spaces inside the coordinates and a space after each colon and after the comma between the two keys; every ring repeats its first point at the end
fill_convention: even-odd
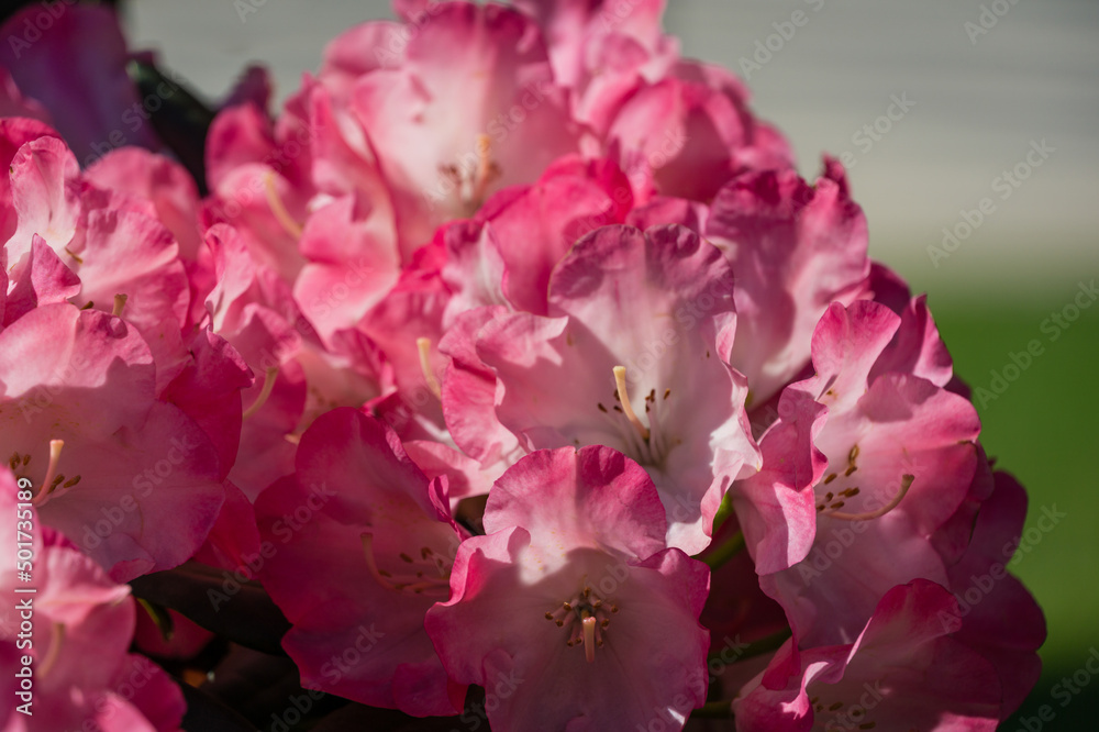
{"type": "Polygon", "coordinates": [[[995,729],[1025,492],[843,167],[663,0],[395,5],[204,179],[5,62],[4,729],[203,729],[278,654],[330,696],[270,729],[995,729]]]}

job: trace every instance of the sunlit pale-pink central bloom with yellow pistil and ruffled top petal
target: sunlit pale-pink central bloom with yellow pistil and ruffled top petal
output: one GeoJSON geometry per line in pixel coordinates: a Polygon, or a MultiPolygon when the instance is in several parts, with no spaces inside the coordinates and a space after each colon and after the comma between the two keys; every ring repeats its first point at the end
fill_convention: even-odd
{"type": "MultiPolygon", "coordinates": [[[[758,461],[746,386],[725,363],[732,282],[687,229],[606,226],[557,265],[550,317],[499,309],[474,334],[499,423],[525,450],[602,444],[637,461],[660,491],[669,545],[687,552],[706,547],[725,487],[758,461]]],[[[452,422],[452,434],[491,453],[482,442],[498,432],[476,414],[489,422],[452,422]]]]}

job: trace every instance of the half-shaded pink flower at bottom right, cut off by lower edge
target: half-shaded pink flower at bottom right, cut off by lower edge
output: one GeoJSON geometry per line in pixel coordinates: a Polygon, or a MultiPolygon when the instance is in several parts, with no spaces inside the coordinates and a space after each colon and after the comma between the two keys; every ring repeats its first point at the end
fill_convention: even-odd
{"type": "Polygon", "coordinates": [[[918,579],[889,590],[850,644],[798,653],[788,641],[733,702],[736,729],[995,730],[996,669],[952,635],[957,611],[918,579]]]}

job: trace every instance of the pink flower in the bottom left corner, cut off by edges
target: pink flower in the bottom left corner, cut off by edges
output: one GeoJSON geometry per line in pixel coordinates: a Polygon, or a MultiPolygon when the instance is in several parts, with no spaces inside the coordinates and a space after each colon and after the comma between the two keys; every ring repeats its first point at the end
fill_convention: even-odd
{"type": "Polygon", "coordinates": [[[22,570],[30,580],[16,577],[14,562],[0,570],[0,590],[12,598],[0,610],[0,668],[11,700],[0,724],[12,732],[179,729],[179,688],[148,658],[127,653],[130,588],[38,523],[25,485],[0,468],[0,510],[11,517],[0,540],[29,544],[32,557],[22,570]]]}

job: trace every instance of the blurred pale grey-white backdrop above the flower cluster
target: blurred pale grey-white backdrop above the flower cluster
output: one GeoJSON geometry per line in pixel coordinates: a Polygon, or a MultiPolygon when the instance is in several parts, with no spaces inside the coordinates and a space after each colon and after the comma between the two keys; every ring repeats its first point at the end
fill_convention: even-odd
{"type": "MultiPolygon", "coordinates": [[[[747,78],[756,113],[791,140],[802,175],[817,175],[823,152],[850,154],[870,253],[918,290],[1025,298],[1099,275],[1099,2],[669,4],[666,26],[684,55],[747,78]],[[879,119],[895,97],[909,109],[895,106],[893,120],[879,119]],[[1044,157],[1031,154],[1028,163],[1042,141],[1044,157]],[[1017,166],[1025,180],[1002,177],[1017,166]],[[929,246],[942,247],[944,226],[965,234],[963,211],[979,211],[985,198],[991,213],[934,266],[929,246]]],[[[208,98],[262,60],[281,100],[303,70],[317,69],[329,40],[390,16],[385,0],[126,7],[133,47],[158,48],[208,98]]]]}

